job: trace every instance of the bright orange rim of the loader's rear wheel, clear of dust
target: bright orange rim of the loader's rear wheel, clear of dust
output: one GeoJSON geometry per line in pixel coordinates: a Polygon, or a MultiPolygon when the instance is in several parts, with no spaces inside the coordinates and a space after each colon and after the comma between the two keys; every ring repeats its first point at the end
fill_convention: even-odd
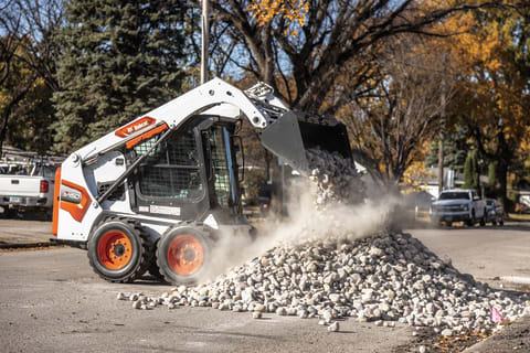
{"type": "Polygon", "coordinates": [[[121,269],[132,255],[132,245],[125,233],[110,231],[105,233],[97,245],[99,263],[108,269],[121,269]]]}

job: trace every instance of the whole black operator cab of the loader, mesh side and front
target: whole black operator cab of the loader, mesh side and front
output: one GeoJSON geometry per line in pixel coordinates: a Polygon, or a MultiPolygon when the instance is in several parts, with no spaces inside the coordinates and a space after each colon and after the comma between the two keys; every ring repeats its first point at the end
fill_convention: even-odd
{"type": "MultiPolygon", "coordinates": [[[[221,224],[246,223],[240,192],[244,163],[240,126],[241,120],[198,115],[170,132],[129,176],[131,210],[180,221],[204,221],[212,214],[221,224]]],[[[127,163],[147,153],[162,136],[163,131],[128,149],[127,163]]]]}

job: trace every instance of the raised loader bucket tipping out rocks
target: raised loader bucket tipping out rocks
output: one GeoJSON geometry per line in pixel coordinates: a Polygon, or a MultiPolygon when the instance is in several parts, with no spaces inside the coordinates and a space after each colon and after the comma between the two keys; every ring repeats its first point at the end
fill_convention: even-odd
{"type": "Polygon", "coordinates": [[[262,145],[293,169],[307,175],[306,150],[320,148],[351,159],[346,126],[331,118],[287,111],[262,132],[262,145]]]}

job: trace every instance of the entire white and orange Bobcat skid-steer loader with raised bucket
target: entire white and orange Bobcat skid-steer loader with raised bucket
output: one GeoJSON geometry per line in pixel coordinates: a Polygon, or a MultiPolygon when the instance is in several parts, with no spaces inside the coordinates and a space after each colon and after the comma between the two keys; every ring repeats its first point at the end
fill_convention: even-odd
{"type": "Polygon", "coordinates": [[[148,270],[172,284],[197,281],[215,263],[211,250],[225,232],[253,236],[240,197],[244,118],[266,149],[303,174],[308,148],[351,158],[336,119],[293,111],[267,85],[242,92],[214,78],[63,162],[56,240],[87,249],[94,271],[109,281],[148,270]]]}

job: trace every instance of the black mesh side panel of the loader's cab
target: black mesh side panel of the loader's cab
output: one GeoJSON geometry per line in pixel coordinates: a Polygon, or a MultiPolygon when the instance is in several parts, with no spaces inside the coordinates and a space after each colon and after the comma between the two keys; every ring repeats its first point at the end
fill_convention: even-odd
{"type": "MultiPolygon", "coordinates": [[[[132,147],[129,156],[147,153],[161,135],[132,147]]],[[[132,180],[134,211],[182,221],[202,218],[210,202],[199,129],[172,132],[142,161],[132,180]]]]}

